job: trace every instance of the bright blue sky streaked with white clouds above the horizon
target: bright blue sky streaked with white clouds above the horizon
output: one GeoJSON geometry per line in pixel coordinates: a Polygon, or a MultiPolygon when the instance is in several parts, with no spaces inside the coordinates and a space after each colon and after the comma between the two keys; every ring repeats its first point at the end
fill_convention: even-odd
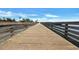
{"type": "Polygon", "coordinates": [[[0,17],[30,18],[41,22],[79,21],[79,8],[0,8],[0,17]]]}

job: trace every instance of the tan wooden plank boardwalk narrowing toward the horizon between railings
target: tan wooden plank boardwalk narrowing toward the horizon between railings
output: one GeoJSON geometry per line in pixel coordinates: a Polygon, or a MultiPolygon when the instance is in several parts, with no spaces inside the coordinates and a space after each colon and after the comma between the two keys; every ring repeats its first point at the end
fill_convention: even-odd
{"type": "Polygon", "coordinates": [[[36,24],[0,44],[2,50],[77,50],[78,48],[42,24],[36,24]]]}

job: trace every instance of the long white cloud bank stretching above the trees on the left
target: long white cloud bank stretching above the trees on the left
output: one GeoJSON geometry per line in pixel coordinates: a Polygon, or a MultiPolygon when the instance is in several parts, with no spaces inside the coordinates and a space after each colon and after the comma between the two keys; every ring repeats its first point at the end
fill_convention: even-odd
{"type": "Polygon", "coordinates": [[[22,18],[26,18],[29,16],[38,16],[37,14],[23,14],[23,13],[14,13],[11,11],[1,11],[0,10],[0,16],[1,17],[22,17],[22,18]]]}

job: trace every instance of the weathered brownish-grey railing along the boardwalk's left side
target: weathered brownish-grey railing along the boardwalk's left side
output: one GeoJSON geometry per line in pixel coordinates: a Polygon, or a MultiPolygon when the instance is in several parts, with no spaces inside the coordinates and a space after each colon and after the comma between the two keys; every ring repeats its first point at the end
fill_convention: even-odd
{"type": "Polygon", "coordinates": [[[0,25],[0,43],[3,41],[6,41],[8,38],[12,37],[12,35],[15,35],[35,24],[36,23],[31,23],[31,24],[13,23],[13,24],[4,24],[4,25],[1,24],[0,25]]]}

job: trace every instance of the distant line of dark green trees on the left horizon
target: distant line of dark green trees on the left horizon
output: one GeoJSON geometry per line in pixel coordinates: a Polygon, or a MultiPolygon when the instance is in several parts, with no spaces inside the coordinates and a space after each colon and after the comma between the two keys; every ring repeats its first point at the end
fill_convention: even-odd
{"type": "MultiPolygon", "coordinates": [[[[6,18],[6,17],[0,18],[0,22],[17,22],[16,20],[17,19],[15,19],[15,18],[13,18],[13,19],[12,18],[6,18]]],[[[34,21],[29,19],[29,18],[22,18],[18,22],[34,22],[34,21]]],[[[37,20],[35,22],[37,22],[37,20]]]]}

